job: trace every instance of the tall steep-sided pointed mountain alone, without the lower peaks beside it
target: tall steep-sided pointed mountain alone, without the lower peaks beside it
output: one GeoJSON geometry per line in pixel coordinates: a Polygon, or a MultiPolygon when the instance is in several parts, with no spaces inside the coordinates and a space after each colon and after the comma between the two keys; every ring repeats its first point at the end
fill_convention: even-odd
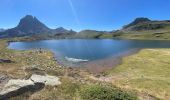
{"type": "Polygon", "coordinates": [[[4,37],[31,36],[42,33],[50,33],[50,29],[40,22],[36,17],[27,15],[19,24],[12,29],[6,30],[4,37]]]}

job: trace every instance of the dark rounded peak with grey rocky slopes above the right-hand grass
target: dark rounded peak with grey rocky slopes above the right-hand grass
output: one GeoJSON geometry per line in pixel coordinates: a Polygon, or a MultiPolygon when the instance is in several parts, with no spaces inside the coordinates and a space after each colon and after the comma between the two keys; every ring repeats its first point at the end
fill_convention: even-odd
{"type": "Polygon", "coordinates": [[[170,26],[170,20],[152,21],[148,18],[136,18],[132,23],[125,25],[123,31],[157,30],[170,26]]]}

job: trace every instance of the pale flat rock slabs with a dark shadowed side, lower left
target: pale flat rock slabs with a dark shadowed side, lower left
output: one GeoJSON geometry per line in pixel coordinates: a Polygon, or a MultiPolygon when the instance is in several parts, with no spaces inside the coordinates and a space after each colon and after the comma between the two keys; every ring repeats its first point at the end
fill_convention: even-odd
{"type": "Polygon", "coordinates": [[[11,79],[0,90],[0,100],[9,99],[26,92],[35,92],[44,88],[45,85],[60,85],[58,77],[49,75],[32,75],[28,80],[11,79]]]}

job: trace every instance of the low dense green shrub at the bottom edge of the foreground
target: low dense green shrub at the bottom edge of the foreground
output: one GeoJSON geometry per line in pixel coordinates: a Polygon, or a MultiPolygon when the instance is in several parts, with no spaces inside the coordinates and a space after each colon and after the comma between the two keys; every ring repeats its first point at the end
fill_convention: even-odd
{"type": "Polygon", "coordinates": [[[102,85],[83,87],[80,97],[83,100],[137,100],[137,97],[131,93],[102,85]]]}

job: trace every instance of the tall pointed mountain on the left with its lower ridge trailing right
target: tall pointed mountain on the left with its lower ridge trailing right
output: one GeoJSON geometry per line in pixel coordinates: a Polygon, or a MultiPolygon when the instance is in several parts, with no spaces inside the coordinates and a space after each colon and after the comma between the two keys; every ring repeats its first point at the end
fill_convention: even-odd
{"type": "Polygon", "coordinates": [[[22,37],[22,36],[56,36],[72,34],[72,31],[66,30],[62,27],[57,29],[50,29],[45,24],[40,22],[36,17],[26,15],[22,18],[19,24],[12,29],[8,29],[4,32],[0,32],[0,37],[22,37]]]}

